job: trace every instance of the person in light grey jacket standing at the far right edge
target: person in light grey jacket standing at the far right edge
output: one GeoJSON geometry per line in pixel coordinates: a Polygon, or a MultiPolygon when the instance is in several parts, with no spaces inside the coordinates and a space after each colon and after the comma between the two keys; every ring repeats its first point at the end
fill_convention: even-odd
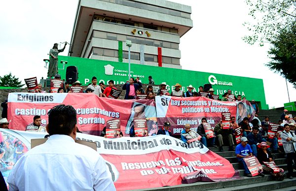
{"type": "Polygon", "coordinates": [[[293,160],[296,164],[296,135],[290,131],[290,125],[284,125],[284,131],[281,133],[284,151],[287,155],[287,178],[293,179],[293,160]]]}

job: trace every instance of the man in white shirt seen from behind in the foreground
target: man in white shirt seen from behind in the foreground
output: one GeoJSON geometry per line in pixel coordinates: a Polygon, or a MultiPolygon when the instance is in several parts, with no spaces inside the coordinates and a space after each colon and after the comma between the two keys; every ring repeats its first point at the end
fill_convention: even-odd
{"type": "Polygon", "coordinates": [[[105,160],[75,143],[76,111],[57,105],[48,112],[48,140],[21,157],[8,177],[9,191],[115,191],[105,160]]]}

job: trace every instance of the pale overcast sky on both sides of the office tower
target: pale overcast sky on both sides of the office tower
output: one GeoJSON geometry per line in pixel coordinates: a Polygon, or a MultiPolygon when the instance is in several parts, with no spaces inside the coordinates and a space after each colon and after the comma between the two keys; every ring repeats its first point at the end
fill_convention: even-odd
{"type": "MultiPolygon", "coordinates": [[[[285,79],[270,71],[263,47],[242,40],[250,19],[243,0],[171,0],[190,5],[193,28],[181,38],[183,69],[261,78],[269,108],[289,102],[285,79]]],[[[5,0],[0,8],[0,76],[46,78],[43,59],[55,42],[71,40],[78,0],[5,0]]],[[[68,48],[59,55],[68,55],[68,48]]],[[[250,84],[254,86],[256,84],[250,84]]],[[[296,90],[288,83],[290,99],[296,90]]],[[[258,93],[260,94],[260,92],[258,93]]],[[[250,97],[251,99],[251,97],[250,97]]]]}

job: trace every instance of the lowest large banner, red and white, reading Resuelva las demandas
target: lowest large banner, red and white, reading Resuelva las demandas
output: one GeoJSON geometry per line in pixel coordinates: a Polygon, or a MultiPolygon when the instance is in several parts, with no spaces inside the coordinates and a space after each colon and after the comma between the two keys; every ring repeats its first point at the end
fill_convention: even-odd
{"type": "MultiPolygon", "coordinates": [[[[46,133],[0,129],[0,134],[7,146],[4,148],[8,153],[5,161],[15,163],[31,148],[31,139],[43,138],[46,133]],[[22,145],[20,155],[9,153],[16,148],[11,140],[22,145]]],[[[76,139],[96,143],[97,152],[105,159],[118,191],[239,178],[238,171],[227,159],[210,151],[199,141],[185,144],[166,135],[108,139],[84,133],[77,133],[76,139]]],[[[5,178],[9,171],[3,173],[5,178]]]]}

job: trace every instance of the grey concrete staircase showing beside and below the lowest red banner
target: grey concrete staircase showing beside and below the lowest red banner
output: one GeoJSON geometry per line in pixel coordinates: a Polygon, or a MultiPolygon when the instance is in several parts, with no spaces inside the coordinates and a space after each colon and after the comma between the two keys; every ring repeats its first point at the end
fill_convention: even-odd
{"type": "MultiPolygon", "coordinates": [[[[252,191],[253,189],[257,189],[259,191],[296,191],[296,178],[292,180],[284,179],[283,181],[274,181],[271,175],[248,178],[244,176],[244,170],[237,162],[234,151],[228,151],[228,147],[226,146],[223,147],[224,152],[219,152],[218,148],[210,147],[209,149],[229,160],[230,163],[232,163],[233,168],[239,170],[239,175],[242,179],[221,182],[196,182],[193,184],[183,184],[172,187],[142,189],[140,191],[252,191]]],[[[277,153],[272,155],[275,163],[286,172],[287,164],[285,154],[277,153]]]]}

